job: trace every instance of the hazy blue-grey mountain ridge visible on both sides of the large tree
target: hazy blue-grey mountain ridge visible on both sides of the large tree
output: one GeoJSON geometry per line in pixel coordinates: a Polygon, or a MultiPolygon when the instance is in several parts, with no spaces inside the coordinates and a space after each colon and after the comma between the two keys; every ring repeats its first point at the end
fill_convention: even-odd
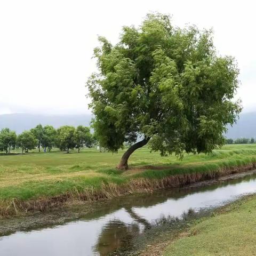
{"type": "MultiPolygon", "coordinates": [[[[58,128],[62,125],[89,126],[92,116],[84,115],[35,115],[35,114],[5,114],[0,115],[0,129],[9,127],[11,130],[21,133],[29,130],[37,124],[52,125],[58,128]]],[[[227,138],[256,138],[256,112],[242,113],[233,127],[229,127],[227,138]]]]}

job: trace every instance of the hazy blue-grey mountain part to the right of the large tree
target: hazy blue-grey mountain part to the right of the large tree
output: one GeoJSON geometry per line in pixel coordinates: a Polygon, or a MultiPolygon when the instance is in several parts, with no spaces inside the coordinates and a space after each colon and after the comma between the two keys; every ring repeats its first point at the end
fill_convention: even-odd
{"type": "Polygon", "coordinates": [[[237,123],[229,127],[227,138],[256,138],[256,112],[242,113],[237,123]]]}

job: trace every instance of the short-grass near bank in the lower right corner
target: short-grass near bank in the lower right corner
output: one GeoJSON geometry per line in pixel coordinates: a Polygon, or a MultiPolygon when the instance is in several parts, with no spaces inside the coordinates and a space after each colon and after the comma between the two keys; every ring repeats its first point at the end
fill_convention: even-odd
{"type": "Polygon", "coordinates": [[[230,204],[214,217],[198,220],[169,245],[163,255],[255,255],[255,209],[256,196],[230,204]]]}

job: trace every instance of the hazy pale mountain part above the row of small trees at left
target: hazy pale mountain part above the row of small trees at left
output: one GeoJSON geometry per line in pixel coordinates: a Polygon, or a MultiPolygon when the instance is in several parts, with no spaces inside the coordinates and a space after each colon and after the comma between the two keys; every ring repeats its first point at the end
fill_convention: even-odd
{"type": "Polygon", "coordinates": [[[21,133],[35,127],[37,124],[52,125],[58,128],[62,125],[89,126],[92,116],[87,115],[35,115],[35,114],[6,114],[0,115],[0,129],[9,127],[21,133]]]}

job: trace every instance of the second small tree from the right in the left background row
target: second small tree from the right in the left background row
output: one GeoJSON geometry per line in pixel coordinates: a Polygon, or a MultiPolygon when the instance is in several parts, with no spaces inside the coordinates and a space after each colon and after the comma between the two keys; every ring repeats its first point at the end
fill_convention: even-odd
{"type": "Polygon", "coordinates": [[[69,149],[73,149],[76,146],[75,131],[75,127],[69,125],[61,126],[57,129],[57,147],[60,150],[66,150],[69,153],[69,149]]]}

